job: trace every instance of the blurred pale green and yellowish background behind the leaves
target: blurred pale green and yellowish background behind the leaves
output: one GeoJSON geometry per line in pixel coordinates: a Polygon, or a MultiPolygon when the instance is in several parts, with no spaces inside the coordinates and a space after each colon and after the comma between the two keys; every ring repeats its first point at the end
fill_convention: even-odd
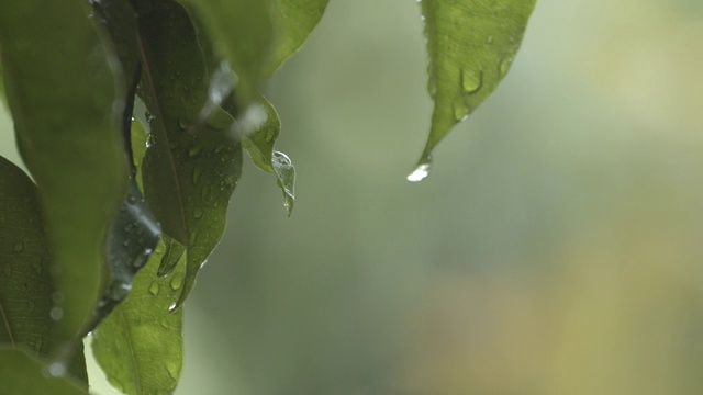
{"type": "Polygon", "coordinates": [[[177,394],[703,393],[701,42],[700,0],[538,0],[410,183],[419,7],[331,1],[269,86],[295,211],[245,168],[177,394]]]}

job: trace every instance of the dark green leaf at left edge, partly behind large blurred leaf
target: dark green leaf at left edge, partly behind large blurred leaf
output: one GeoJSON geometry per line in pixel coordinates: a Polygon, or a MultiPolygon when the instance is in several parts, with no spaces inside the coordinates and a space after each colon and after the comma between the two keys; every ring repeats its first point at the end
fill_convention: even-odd
{"type": "Polygon", "coordinates": [[[55,287],[43,229],[34,183],[0,157],[0,343],[46,356],[55,287]]]}

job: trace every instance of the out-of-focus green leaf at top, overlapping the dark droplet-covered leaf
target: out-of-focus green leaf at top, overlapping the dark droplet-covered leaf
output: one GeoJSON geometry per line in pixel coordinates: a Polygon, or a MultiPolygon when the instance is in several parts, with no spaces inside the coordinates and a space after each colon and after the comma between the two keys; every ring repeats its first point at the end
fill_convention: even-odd
{"type": "Polygon", "coordinates": [[[216,45],[215,53],[237,74],[236,94],[246,106],[255,100],[272,71],[276,32],[271,0],[180,0],[202,21],[207,35],[216,45]]]}

